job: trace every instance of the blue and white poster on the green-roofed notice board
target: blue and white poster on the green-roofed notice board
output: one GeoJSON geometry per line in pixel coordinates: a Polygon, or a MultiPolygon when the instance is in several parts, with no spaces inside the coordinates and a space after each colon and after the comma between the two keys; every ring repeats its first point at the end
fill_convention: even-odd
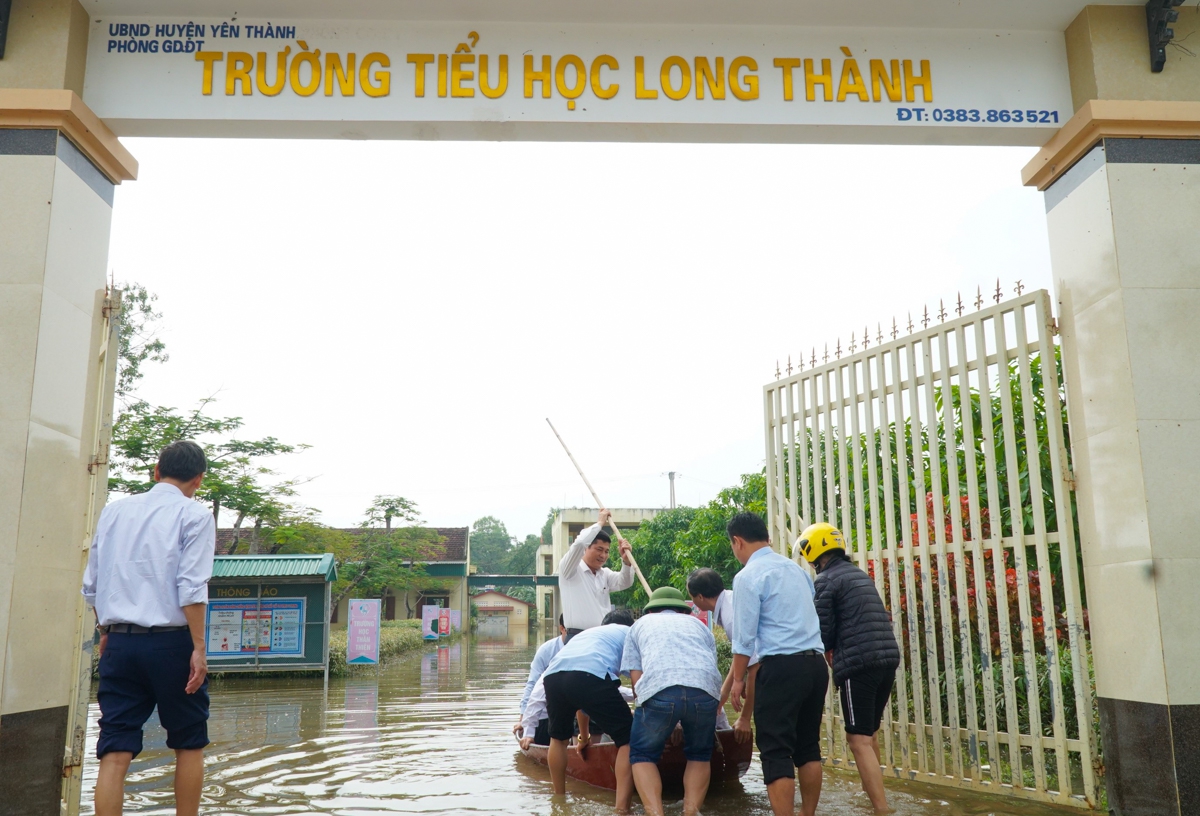
{"type": "Polygon", "coordinates": [[[304,656],[304,598],[214,600],[206,611],[208,656],[304,656]]]}

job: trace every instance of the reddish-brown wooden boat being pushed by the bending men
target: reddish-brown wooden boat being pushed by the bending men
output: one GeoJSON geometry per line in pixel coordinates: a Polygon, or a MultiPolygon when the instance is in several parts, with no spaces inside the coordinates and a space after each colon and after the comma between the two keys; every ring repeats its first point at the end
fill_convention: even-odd
{"type": "MultiPolygon", "coordinates": [[[[527,757],[540,764],[546,764],[546,745],[530,745],[522,750],[527,757]]],[[[754,754],[754,739],[739,743],[733,737],[733,730],[718,731],[713,743],[712,784],[732,781],[745,774],[754,754]]],[[[583,749],[583,755],[575,750],[574,743],[566,752],[566,775],[588,785],[608,791],[617,790],[617,746],[607,738],[595,745],[583,749]]],[[[664,787],[683,787],[683,770],[688,761],[683,756],[683,745],[667,743],[659,760],[659,774],[664,787]]]]}

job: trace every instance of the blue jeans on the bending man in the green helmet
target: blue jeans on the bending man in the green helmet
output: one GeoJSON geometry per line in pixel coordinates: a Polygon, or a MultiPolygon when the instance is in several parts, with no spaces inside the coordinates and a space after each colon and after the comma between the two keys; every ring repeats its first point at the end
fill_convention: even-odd
{"type": "Polygon", "coordinates": [[[716,739],[718,700],[707,691],[686,685],[662,689],[642,701],[634,712],[629,739],[629,762],[658,762],[674,727],[683,724],[683,755],[689,762],[713,758],[716,739]]]}

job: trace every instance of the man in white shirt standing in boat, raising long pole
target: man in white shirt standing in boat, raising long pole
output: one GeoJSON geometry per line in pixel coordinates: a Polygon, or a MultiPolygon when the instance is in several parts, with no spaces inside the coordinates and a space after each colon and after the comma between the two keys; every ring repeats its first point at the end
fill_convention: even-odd
{"type": "Polygon", "coordinates": [[[622,539],[618,542],[624,562],[620,572],[605,566],[612,539],[604,527],[611,520],[612,511],[601,508],[600,521],[580,533],[558,564],[558,588],[563,598],[568,642],[584,629],[599,626],[604,617],[612,612],[608,593],[634,586],[629,541],[622,539]]]}

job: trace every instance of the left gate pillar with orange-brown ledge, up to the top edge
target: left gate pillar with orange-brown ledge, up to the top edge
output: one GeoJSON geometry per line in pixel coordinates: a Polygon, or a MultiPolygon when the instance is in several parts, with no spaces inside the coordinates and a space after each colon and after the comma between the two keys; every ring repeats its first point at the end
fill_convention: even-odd
{"type": "Polygon", "coordinates": [[[12,12],[0,60],[0,810],[58,816],[62,790],[78,796],[77,768],[66,786],[64,769],[82,750],[68,715],[90,485],[103,478],[113,191],[137,162],[77,96],[83,7],[17,0],[12,12]]]}

